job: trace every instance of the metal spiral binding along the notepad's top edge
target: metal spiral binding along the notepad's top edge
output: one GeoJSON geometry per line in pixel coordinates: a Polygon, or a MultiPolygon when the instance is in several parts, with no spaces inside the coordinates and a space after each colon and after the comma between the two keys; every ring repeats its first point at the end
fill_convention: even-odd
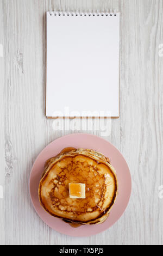
{"type": "Polygon", "coordinates": [[[117,13],[115,10],[110,11],[110,10],[93,10],[93,11],[88,11],[88,10],[54,10],[52,11],[50,9],[49,15],[51,16],[117,16],[117,13]]]}

